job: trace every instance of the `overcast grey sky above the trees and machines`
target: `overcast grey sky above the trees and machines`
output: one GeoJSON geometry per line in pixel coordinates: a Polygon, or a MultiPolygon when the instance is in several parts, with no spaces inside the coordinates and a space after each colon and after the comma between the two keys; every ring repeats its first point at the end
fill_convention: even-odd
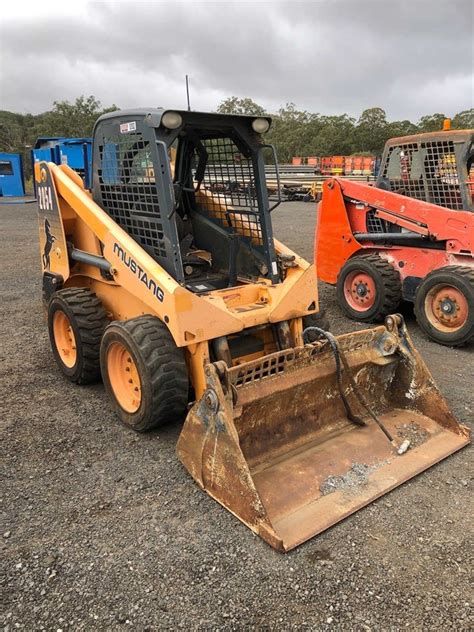
{"type": "Polygon", "coordinates": [[[473,107],[472,0],[2,4],[0,109],[54,100],[193,109],[227,96],[269,111],[384,108],[390,119],[473,107]],[[7,8],[8,7],[8,8],[7,8]]]}

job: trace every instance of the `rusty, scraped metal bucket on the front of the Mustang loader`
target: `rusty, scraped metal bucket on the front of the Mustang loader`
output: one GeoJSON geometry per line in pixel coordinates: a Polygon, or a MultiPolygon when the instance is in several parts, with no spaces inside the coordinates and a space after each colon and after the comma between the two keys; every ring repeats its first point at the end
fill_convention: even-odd
{"type": "Polygon", "coordinates": [[[365,426],[349,422],[327,342],[227,368],[206,366],[178,456],[193,478],[271,546],[288,551],[469,443],[413,348],[400,316],[337,338],[355,385],[343,392],[365,426]]]}

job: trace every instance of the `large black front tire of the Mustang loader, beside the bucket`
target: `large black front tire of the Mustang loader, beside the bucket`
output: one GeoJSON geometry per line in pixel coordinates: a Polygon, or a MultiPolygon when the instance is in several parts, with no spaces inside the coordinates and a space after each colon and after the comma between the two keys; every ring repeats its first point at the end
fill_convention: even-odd
{"type": "Polygon", "coordinates": [[[139,316],[111,323],[100,348],[102,379],[121,421],[137,432],[181,420],[188,404],[188,371],[183,350],[176,346],[166,325],[154,316],[139,316]],[[136,410],[123,408],[117,399],[108,369],[113,343],[125,347],[140,382],[136,410]]]}

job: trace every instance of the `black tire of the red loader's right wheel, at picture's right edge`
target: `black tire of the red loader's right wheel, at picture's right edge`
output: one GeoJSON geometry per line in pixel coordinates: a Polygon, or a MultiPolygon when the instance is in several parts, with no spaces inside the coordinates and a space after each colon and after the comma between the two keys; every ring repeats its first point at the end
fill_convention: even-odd
{"type": "MultiPolygon", "coordinates": [[[[447,293],[449,295],[449,292],[447,293]]],[[[441,300],[440,295],[440,300],[441,300]]],[[[442,301],[441,301],[442,302],[442,301]]],[[[440,302],[440,310],[441,310],[440,302]]],[[[420,283],[415,296],[415,316],[421,329],[429,338],[442,345],[460,347],[474,339],[474,269],[466,266],[446,266],[433,270],[420,283]],[[446,307],[455,310],[453,315],[445,316],[443,312],[437,315],[432,300],[437,288],[450,286],[460,292],[467,303],[465,320],[456,326],[456,311],[461,306],[459,300],[446,299],[446,307]]]]}

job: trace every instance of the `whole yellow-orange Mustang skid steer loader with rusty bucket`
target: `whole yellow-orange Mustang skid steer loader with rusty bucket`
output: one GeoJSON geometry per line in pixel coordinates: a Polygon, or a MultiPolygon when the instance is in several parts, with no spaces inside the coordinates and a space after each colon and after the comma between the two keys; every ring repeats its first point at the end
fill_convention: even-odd
{"type": "Polygon", "coordinates": [[[337,338],[319,326],[314,266],[273,238],[270,122],[113,112],[94,129],[91,193],[67,165],[35,177],[62,373],[102,377],[134,430],[185,418],[188,472],[288,550],[469,437],[401,317],[337,338]]]}

